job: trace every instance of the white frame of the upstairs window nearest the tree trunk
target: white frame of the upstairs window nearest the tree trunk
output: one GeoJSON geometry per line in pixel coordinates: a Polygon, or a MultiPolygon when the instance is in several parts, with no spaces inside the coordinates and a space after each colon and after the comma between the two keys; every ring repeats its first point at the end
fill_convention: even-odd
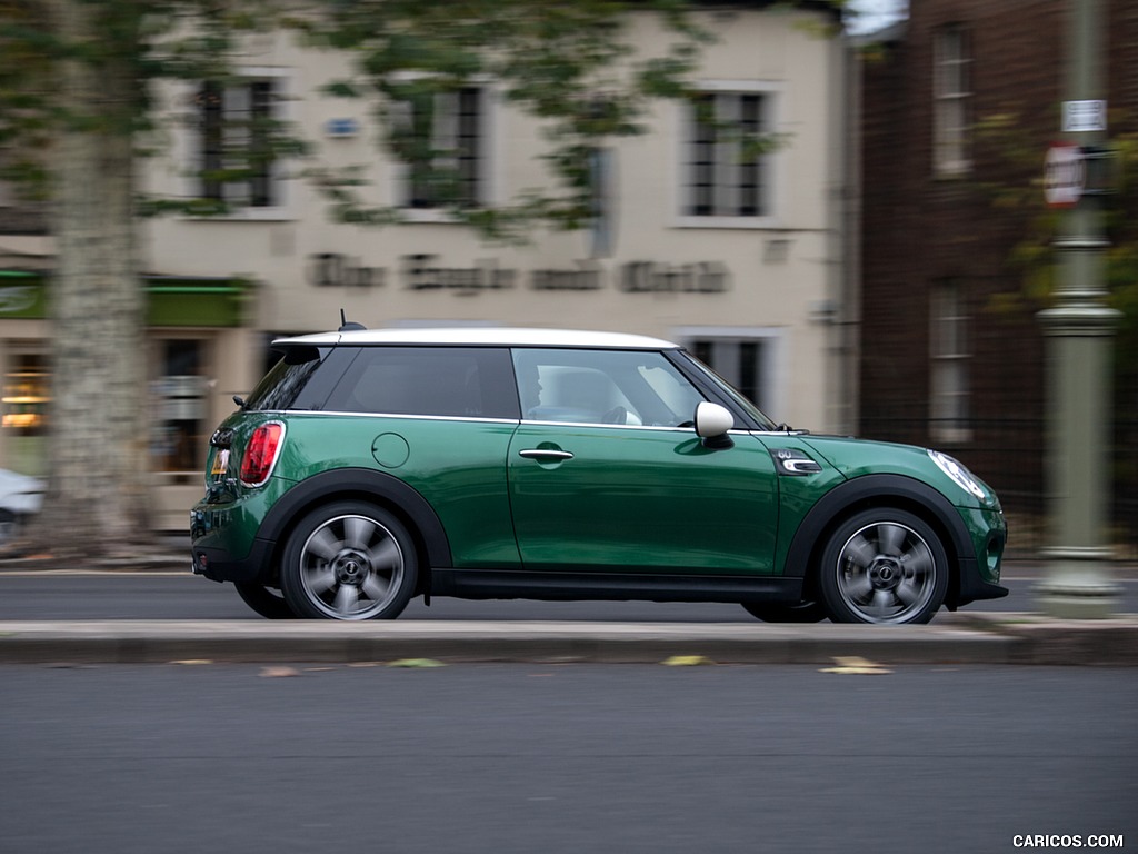
{"type": "MultiPolygon", "coordinates": [[[[255,83],[259,80],[272,81],[273,83],[273,108],[275,118],[286,123],[296,121],[296,109],[291,96],[292,69],[280,66],[242,66],[236,69],[236,76],[242,83],[255,83]]],[[[191,114],[189,116],[189,129],[181,136],[182,150],[179,153],[180,162],[191,164],[191,169],[183,180],[182,195],[185,198],[201,198],[203,181],[198,174],[204,169],[205,140],[200,130],[200,114],[195,104],[197,93],[201,90],[203,82],[188,84],[184,89],[185,104],[191,114]]],[[[176,150],[175,142],[175,150],[176,150]]],[[[269,206],[251,207],[237,206],[233,210],[213,216],[185,216],[189,220],[238,220],[238,221],[284,221],[295,219],[291,212],[291,182],[286,180],[286,165],[281,159],[271,166],[270,181],[273,187],[273,203],[269,206]]]]}

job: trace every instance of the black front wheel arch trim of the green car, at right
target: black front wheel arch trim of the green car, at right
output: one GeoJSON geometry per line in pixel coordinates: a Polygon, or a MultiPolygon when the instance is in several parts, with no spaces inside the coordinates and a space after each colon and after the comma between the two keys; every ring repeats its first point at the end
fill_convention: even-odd
{"type": "Polygon", "coordinates": [[[813,584],[813,569],[834,528],[851,515],[875,507],[908,510],[927,523],[941,540],[949,563],[945,605],[956,610],[960,580],[976,572],[972,539],[953,503],[933,487],[905,475],[864,475],[827,492],[807,514],[786,552],[784,575],[813,584]]]}

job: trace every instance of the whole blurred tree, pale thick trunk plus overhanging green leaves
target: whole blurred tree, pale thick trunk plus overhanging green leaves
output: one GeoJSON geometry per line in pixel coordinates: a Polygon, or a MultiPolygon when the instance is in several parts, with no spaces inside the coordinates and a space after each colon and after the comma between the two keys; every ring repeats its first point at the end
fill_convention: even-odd
{"type": "MultiPolygon", "coordinates": [[[[760,3],[767,5],[767,3],[760,3]]],[[[358,169],[320,164],[295,129],[246,121],[254,145],[221,146],[192,198],[138,198],[137,159],[168,147],[164,84],[192,82],[198,106],[244,80],[245,40],[290,31],[349,58],[325,93],[366,98],[381,141],[456,221],[498,239],[535,223],[579,228],[595,214],[599,147],[643,133],[651,105],[692,98],[687,77],[708,33],[694,0],[0,0],[0,180],[49,199],[57,258],[51,281],[53,412],[51,484],[33,548],[84,558],[123,552],[147,531],[146,376],[139,215],[225,213],[224,187],[282,158],[345,222],[387,224],[401,211],[369,202],[358,169]],[[645,22],[652,22],[648,24],[645,22]],[[633,50],[630,28],[660,27],[665,47],[633,50]],[[551,180],[496,208],[463,199],[448,151],[422,117],[439,96],[494,81],[539,120],[551,180]],[[232,149],[232,150],[231,150],[232,149]],[[206,197],[212,196],[212,197],[206,197]],[[51,525],[66,518],[65,529],[51,525]]],[[[769,3],[832,13],[839,0],[769,3]]],[[[838,18],[833,14],[830,20],[838,18]]],[[[213,101],[216,104],[216,101],[213,101]]],[[[203,122],[204,110],[191,121],[203,122]]],[[[251,113],[251,112],[250,112],[251,113]]],[[[185,121],[187,116],[175,116],[185,121]]],[[[229,117],[225,116],[225,126],[229,117]]],[[[205,125],[203,124],[203,128],[205,125]]],[[[741,140],[748,156],[780,139],[741,140]]]]}

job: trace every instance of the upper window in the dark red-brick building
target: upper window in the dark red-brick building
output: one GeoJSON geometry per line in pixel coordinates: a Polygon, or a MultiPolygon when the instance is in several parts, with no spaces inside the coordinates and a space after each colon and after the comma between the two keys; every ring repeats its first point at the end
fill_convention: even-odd
{"type": "Polygon", "coordinates": [[[933,167],[938,175],[968,171],[971,65],[967,33],[946,26],[934,35],[933,167]]]}

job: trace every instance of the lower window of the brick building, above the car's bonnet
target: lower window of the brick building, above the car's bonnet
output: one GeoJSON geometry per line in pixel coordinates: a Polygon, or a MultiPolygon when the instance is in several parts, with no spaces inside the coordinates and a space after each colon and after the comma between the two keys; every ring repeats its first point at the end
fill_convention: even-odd
{"type": "Polygon", "coordinates": [[[967,442],[972,356],[968,317],[957,282],[933,287],[930,332],[930,434],[937,442],[967,442]]]}

